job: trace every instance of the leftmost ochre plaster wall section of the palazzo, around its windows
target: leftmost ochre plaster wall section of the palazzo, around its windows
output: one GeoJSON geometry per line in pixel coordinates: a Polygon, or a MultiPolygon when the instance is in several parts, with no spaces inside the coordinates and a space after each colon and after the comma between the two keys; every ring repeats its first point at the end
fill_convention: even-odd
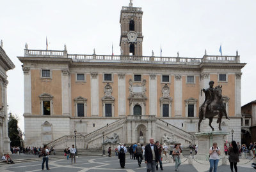
{"type": "Polygon", "coordinates": [[[53,114],[62,115],[61,71],[52,70],[52,79],[41,79],[40,69],[31,69],[32,115],[40,115],[40,98],[43,93],[53,96],[53,114]],[[46,82],[47,81],[47,82],[46,82]]]}

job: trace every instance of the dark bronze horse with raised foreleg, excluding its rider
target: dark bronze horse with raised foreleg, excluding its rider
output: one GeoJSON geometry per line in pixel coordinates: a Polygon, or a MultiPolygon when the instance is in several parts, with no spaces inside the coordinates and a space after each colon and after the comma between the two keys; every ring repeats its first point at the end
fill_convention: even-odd
{"type": "MultiPolygon", "coordinates": [[[[218,85],[214,89],[214,99],[213,101],[208,105],[205,117],[209,118],[209,126],[212,128],[212,131],[214,131],[214,128],[212,127],[212,119],[214,116],[219,115],[217,123],[219,123],[219,129],[221,131],[221,118],[223,115],[226,116],[227,119],[227,111],[225,108],[225,104],[223,103],[222,99],[222,85],[218,85]]],[[[204,103],[199,108],[199,122],[198,122],[198,132],[200,132],[200,124],[204,118],[204,103]]]]}

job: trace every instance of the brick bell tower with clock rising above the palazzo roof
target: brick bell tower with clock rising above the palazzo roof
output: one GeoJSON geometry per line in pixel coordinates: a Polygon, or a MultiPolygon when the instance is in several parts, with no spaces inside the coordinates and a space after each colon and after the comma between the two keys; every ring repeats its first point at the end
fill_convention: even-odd
{"type": "Polygon", "coordinates": [[[142,56],[142,15],[141,8],[123,6],[120,14],[121,36],[119,46],[121,55],[142,56]]]}

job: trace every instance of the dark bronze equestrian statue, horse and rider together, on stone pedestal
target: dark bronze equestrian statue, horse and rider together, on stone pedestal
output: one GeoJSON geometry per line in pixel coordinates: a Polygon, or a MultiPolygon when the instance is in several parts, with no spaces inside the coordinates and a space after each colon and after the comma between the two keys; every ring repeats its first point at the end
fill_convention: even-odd
{"type": "Polygon", "coordinates": [[[225,108],[225,104],[223,103],[222,99],[222,85],[218,85],[217,87],[213,88],[214,82],[209,82],[209,88],[203,89],[205,94],[205,101],[199,108],[199,122],[198,122],[198,132],[200,132],[200,124],[202,120],[205,118],[209,118],[209,126],[214,131],[212,127],[212,119],[214,116],[218,115],[217,123],[219,123],[219,129],[221,131],[221,118],[223,114],[229,120],[230,118],[227,115],[227,111],[225,108]]]}

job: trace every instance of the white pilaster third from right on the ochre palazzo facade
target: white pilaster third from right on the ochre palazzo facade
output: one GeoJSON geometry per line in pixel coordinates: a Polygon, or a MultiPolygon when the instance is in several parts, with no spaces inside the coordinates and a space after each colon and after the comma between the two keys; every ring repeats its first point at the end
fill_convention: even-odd
{"type": "Polygon", "coordinates": [[[175,75],[174,80],[174,110],[175,117],[182,116],[182,76],[175,75]]]}

